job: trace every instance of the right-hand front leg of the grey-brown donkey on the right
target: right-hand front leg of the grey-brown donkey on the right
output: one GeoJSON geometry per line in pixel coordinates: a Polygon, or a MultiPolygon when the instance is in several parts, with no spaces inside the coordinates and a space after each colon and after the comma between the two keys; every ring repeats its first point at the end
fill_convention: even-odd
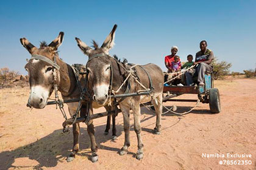
{"type": "Polygon", "coordinates": [[[136,154],[137,160],[141,160],[143,158],[143,143],[141,139],[141,125],[140,125],[140,105],[136,105],[132,108],[133,118],[134,118],[134,131],[137,134],[138,140],[138,151],[136,154]]]}

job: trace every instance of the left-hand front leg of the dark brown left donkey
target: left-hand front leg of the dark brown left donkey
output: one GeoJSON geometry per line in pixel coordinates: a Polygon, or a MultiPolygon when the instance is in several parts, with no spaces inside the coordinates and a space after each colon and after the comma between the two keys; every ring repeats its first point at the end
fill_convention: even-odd
{"type": "Polygon", "coordinates": [[[73,139],[74,139],[74,144],[73,144],[73,149],[71,154],[69,154],[68,158],[66,161],[73,161],[74,158],[76,157],[76,153],[79,151],[79,134],[80,134],[80,126],[79,123],[73,124],[73,139]]]}

